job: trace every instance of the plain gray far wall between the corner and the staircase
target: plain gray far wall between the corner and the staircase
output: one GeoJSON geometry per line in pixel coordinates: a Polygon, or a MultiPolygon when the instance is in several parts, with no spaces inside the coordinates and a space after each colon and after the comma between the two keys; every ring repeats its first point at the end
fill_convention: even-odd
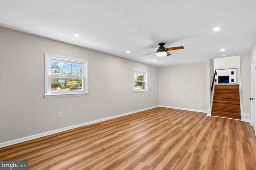
{"type": "Polygon", "coordinates": [[[206,62],[159,68],[159,105],[207,111],[206,62]]]}

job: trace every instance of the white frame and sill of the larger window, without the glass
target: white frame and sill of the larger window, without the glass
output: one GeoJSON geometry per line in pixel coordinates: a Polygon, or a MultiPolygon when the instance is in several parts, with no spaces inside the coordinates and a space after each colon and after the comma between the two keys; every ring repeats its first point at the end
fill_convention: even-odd
{"type": "Polygon", "coordinates": [[[70,57],[63,57],[53,54],[44,54],[44,97],[45,98],[62,98],[62,97],[74,97],[74,96],[88,96],[88,61],[82,59],[74,59],[70,57]],[[76,76],[58,76],[65,78],[81,78],[82,79],[82,90],[79,91],[62,91],[52,92],[51,91],[51,78],[56,75],[51,75],[50,61],[73,63],[82,65],[82,77],[76,76]]]}

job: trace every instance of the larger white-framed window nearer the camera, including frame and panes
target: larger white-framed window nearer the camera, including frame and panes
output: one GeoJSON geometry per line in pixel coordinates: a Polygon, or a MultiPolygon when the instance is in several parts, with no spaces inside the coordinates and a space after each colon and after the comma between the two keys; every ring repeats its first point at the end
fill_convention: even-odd
{"type": "Polygon", "coordinates": [[[45,98],[88,95],[88,61],[44,54],[45,98]]]}

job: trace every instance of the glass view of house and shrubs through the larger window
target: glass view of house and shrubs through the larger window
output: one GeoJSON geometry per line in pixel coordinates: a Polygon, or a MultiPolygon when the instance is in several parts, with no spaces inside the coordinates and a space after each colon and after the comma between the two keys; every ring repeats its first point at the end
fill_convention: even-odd
{"type": "Polygon", "coordinates": [[[50,61],[50,69],[51,91],[82,90],[82,65],[50,61]]]}

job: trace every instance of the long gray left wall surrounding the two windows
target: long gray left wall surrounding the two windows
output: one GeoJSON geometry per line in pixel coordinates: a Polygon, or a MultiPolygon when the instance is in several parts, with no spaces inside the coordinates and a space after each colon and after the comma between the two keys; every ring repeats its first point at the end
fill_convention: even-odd
{"type": "Polygon", "coordinates": [[[4,27],[0,37],[0,143],[158,105],[158,67],[4,27]],[[88,60],[90,95],[45,99],[44,53],[88,60]],[[134,68],[148,71],[148,92],[133,92],[134,68]]]}

